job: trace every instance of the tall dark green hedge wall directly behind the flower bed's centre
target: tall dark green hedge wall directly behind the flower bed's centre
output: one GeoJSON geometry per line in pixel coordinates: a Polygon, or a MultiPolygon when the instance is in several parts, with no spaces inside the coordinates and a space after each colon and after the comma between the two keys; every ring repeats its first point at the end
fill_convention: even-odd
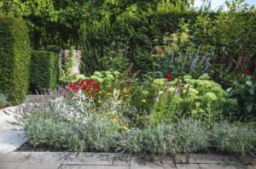
{"type": "Polygon", "coordinates": [[[179,30],[181,20],[195,22],[197,16],[194,11],[183,10],[136,15],[124,13],[116,16],[114,20],[107,18],[93,23],[85,21],[79,31],[82,47],[80,70],[83,73],[108,70],[110,67],[106,61],[110,59],[102,60],[102,58],[111,56],[114,59],[119,53],[117,51],[127,48],[128,54],[121,54],[121,57],[126,57],[137,70],[145,73],[150,70],[150,67],[145,67],[143,64],[150,62],[148,60],[150,50],[156,44],[160,44],[166,33],[172,34],[179,30]]]}

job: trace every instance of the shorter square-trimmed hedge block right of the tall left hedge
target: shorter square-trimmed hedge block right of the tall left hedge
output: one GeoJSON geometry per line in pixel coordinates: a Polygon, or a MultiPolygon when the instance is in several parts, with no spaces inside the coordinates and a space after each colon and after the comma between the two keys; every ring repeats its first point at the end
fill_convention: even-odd
{"type": "Polygon", "coordinates": [[[58,55],[47,51],[33,51],[30,90],[42,93],[56,87],[58,82],[58,55]]]}

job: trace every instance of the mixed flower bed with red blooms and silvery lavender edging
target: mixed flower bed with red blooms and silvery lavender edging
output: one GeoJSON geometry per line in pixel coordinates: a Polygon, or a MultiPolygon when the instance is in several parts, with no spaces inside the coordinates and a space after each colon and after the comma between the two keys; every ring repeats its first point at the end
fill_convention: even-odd
{"type": "Polygon", "coordinates": [[[25,104],[18,113],[28,143],[136,154],[196,153],[212,146],[232,154],[256,152],[255,125],[225,121],[236,99],[209,76],[170,73],[147,83],[131,67],[123,75],[77,76],[41,103],[25,104]]]}

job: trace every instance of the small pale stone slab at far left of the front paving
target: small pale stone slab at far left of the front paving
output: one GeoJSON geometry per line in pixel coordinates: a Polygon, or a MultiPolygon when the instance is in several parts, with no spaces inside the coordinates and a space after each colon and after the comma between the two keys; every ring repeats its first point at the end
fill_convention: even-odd
{"type": "Polygon", "coordinates": [[[0,159],[0,162],[24,162],[29,159],[30,155],[29,152],[12,152],[0,159]]]}

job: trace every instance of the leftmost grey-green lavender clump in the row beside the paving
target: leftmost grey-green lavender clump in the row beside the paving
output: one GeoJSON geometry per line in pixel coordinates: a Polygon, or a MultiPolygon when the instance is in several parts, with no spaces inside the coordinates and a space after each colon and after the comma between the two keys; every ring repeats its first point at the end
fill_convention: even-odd
{"type": "Polygon", "coordinates": [[[51,149],[83,150],[81,127],[71,121],[61,121],[54,117],[33,115],[26,121],[26,136],[34,146],[51,149]]]}

